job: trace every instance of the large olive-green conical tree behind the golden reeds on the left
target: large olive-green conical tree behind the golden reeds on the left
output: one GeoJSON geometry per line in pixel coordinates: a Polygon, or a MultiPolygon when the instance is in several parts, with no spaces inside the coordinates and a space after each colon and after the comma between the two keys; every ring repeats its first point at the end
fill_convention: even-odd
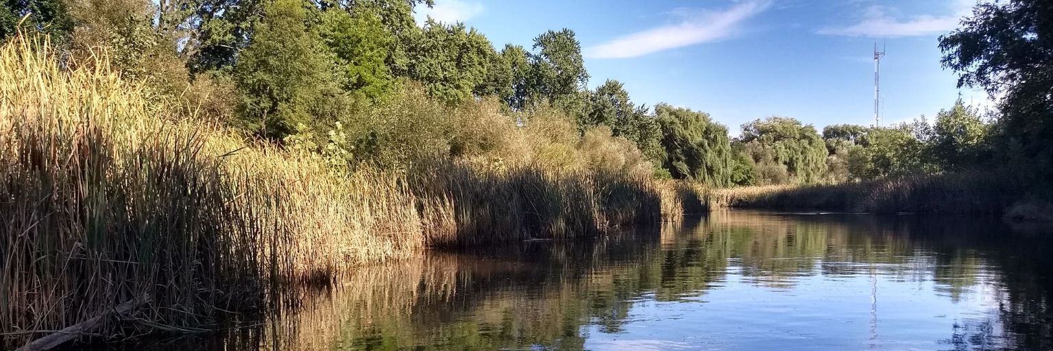
{"type": "Polygon", "coordinates": [[[253,40],[239,56],[235,82],[241,124],[280,140],[332,106],[333,63],[318,34],[307,26],[302,0],[275,0],[264,7],[253,40]]]}

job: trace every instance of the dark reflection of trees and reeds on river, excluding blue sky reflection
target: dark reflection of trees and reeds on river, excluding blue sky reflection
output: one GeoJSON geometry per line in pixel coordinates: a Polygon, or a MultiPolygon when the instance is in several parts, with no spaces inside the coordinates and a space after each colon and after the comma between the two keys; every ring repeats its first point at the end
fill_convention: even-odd
{"type": "Polygon", "coordinates": [[[786,289],[802,276],[872,270],[931,279],[953,300],[981,280],[998,282],[1001,308],[959,321],[943,340],[949,348],[1053,348],[1051,289],[1036,278],[1053,272],[1045,259],[1051,240],[1014,236],[996,221],[717,212],[668,225],[660,235],[650,231],[363,267],[331,294],[305,295],[300,311],[267,329],[173,350],[253,350],[261,343],[280,350],[580,350],[589,332],[623,331],[639,301],[697,297],[729,272],[786,289]]]}

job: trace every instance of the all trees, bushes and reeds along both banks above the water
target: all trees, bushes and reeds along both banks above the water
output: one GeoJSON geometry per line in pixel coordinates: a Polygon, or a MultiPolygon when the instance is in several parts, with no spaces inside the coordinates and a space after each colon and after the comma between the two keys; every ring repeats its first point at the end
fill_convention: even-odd
{"type": "Polygon", "coordinates": [[[1053,218],[1040,1],[978,4],[939,39],[995,110],[821,131],[771,116],[734,138],[590,86],[569,28],[501,47],[417,23],[425,5],[0,5],[0,349],[90,320],[79,333],[105,340],[257,320],[428,249],[720,207],[1053,218]]]}

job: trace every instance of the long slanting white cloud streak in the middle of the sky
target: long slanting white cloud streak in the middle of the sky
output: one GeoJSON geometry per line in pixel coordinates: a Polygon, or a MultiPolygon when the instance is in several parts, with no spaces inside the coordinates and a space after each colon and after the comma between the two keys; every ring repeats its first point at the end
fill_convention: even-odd
{"type": "Polygon", "coordinates": [[[678,24],[659,26],[630,34],[585,50],[593,58],[629,58],[670,48],[720,40],[734,35],[741,23],[771,5],[770,1],[741,1],[731,8],[714,11],[677,11],[683,17],[678,24]]]}

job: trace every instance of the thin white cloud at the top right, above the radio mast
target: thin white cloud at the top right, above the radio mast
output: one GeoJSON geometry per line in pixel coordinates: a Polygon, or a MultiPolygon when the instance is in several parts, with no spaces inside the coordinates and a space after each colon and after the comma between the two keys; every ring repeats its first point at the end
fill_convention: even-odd
{"type": "Polygon", "coordinates": [[[819,34],[848,37],[901,38],[945,34],[958,26],[959,19],[969,14],[975,0],[956,0],[948,15],[895,16],[895,8],[873,5],[863,11],[862,19],[851,25],[827,26],[819,34]]]}

